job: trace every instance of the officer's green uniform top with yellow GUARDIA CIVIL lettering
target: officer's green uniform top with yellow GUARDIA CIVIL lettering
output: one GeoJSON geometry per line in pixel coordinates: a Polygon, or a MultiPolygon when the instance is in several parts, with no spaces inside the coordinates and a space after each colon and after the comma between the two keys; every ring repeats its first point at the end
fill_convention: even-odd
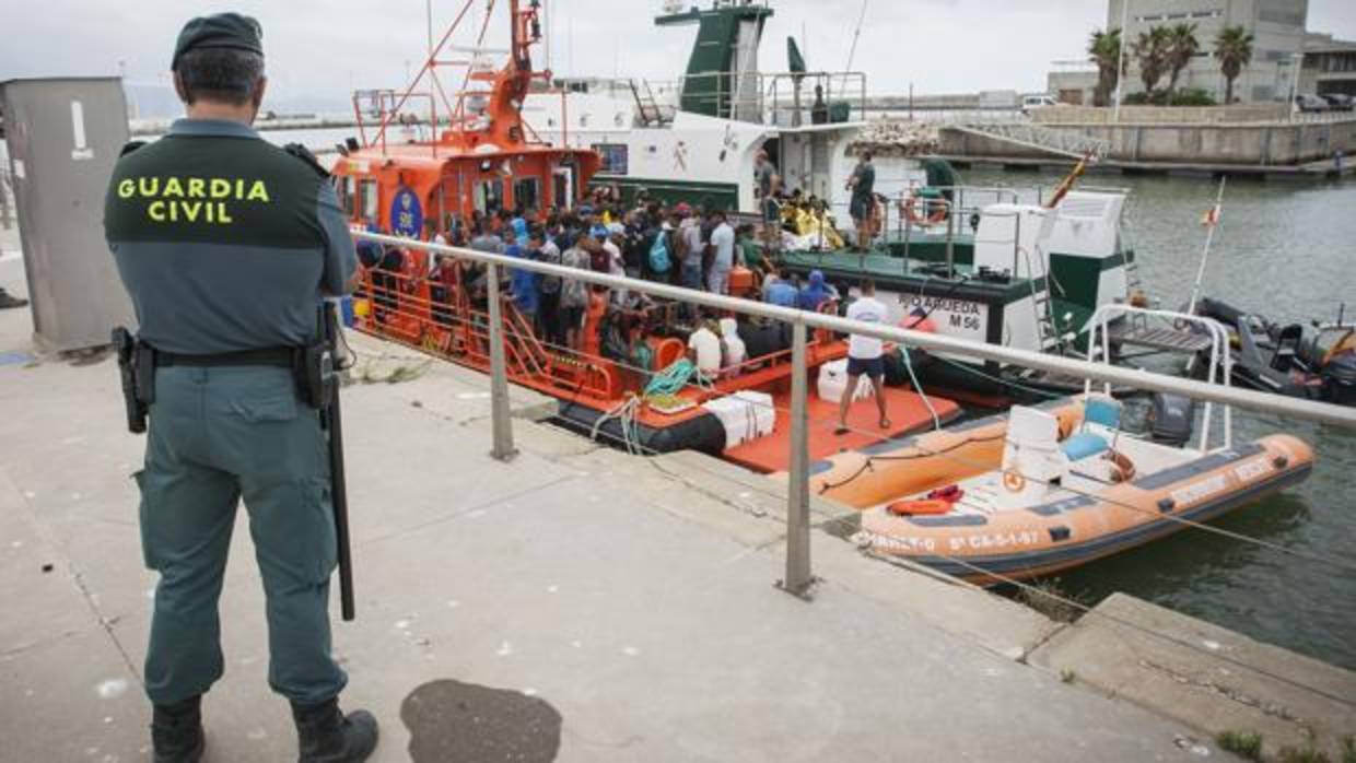
{"type": "Polygon", "coordinates": [[[357,267],[330,182],[237,122],[179,119],[118,160],[104,234],[141,337],[167,352],[305,344],[357,267]]]}

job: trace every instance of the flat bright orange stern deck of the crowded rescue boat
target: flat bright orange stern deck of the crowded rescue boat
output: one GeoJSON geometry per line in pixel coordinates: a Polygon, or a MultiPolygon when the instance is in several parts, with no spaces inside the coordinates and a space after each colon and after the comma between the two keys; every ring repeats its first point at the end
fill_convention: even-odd
{"type": "MultiPolygon", "coordinates": [[[[909,389],[888,386],[884,393],[890,428],[880,428],[875,400],[858,400],[848,411],[849,431],[842,435],[834,434],[838,428],[838,404],[811,393],[805,401],[810,419],[810,461],[815,462],[843,450],[858,450],[933,426],[932,413],[922,396],[909,389]]],[[[777,407],[777,423],[772,434],[725,450],[727,461],[763,473],[785,472],[791,468],[791,393],[774,396],[773,403],[777,407]]],[[[961,413],[960,405],[951,400],[929,396],[928,403],[932,403],[942,424],[961,413]]]]}

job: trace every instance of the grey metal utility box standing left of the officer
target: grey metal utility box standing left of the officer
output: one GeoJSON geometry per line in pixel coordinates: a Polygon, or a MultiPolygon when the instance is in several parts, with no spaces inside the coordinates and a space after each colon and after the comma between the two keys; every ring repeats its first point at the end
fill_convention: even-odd
{"type": "Polygon", "coordinates": [[[108,344],[113,327],[134,325],[103,239],[104,192],[127,142],[122,81],[8,80],[0,104],[34,337],[57,352],[108,344]]]}

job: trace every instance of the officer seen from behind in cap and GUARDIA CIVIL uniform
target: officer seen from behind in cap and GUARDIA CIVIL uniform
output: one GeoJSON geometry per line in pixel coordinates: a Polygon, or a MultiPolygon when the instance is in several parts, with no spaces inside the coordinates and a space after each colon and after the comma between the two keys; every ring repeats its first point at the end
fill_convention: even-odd
{"type": "Polygon", "coordinates": [[[357,259],[323,171],[251,129],[260,38],[237,14],[183,27],[172,69],[187,118],[129,146],[104,211],[140,340],[155,348],[136,478],[145,562],[160,573],[145,664],[157,762],[203,752],[199,702],[222,674],[217,599],[241,499],[267,598],[268,684],[292,702],[300,759],[363,760],[377,744],[372,714],[338,705],[325,440],[293,373],[296,350],[317,339],[321,297],[354,286],[357,259]]]}

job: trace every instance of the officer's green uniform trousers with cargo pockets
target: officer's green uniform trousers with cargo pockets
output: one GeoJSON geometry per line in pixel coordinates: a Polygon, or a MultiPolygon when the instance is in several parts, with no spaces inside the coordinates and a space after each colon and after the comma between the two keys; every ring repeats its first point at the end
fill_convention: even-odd
{"type": "Polygon", "coordinates": [[[267,598],[268,684],[304,703],[339,694],[347,676],[330,655],[330,461],[292,371],[159,369],[137,482],[146,566],[160,573],[145,665],[151,701],[178,702],[221,678],[217,599],[240,499],[267,598]]]}

